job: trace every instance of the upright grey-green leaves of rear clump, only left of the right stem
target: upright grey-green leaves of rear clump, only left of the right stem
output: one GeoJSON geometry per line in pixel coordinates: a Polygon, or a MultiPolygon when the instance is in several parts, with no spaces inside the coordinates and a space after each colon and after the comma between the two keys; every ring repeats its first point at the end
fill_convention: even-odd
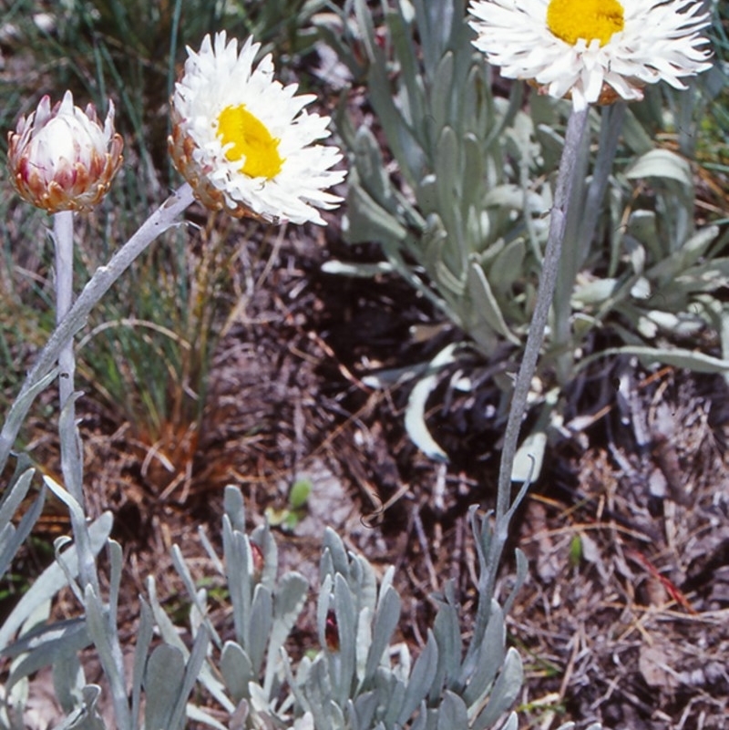
{"type": "Polygon", "coordinates": [[[519,112],[519,87],[509,100],[491,94],[491,72],[470,43],[465,3],[396,2],[384,13],[382,36],[364,2],[354,2],[348,46],[346,33],[343,42],[323,28],[364,75],[404,183],[388,174],[373,131],[354,129],[343,109],[339,130],[351,159],[346,238],[380,243],[396,272],[493,355],[499,341],[519,342],[514,324],[528,323],[509,303],[524,273],[528,226],[543,228],[539,216],[549,210],[549,191],[522,190],[511,180],[520,172],[529,178],[538,151],[519,112]],[[364,51],[362,67],[354,47],[364,51]],[[515,158],[504,146],[508,135],[515,158]]]}

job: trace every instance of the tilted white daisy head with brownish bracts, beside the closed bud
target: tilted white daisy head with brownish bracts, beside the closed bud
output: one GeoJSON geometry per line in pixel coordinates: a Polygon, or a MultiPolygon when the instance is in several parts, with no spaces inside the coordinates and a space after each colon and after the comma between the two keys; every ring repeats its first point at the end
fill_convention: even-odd
{"type": "Polygon", "coordinates": [[[169,151],[195,196],[211,210],[280,223],[323,224],[317,209],[342,199],[325,192],[344,180],[330,170],[334,148],[313,144],[329,137],[328,117],[304,107],[313,95],[273,78],[271,56],[253,61],[260,44],[205,36],[200,53],[188,48],[185,72],[172,97],[169,151]]]}

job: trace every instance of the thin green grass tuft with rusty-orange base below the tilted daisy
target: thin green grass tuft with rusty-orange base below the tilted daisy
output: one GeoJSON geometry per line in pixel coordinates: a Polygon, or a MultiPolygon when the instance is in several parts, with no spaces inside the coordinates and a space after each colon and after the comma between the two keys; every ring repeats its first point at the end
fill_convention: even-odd
{"type": "MultiPolygon", "coordinates": [[[[123,186],[79,230],[79,282],[135,222],[123,186]]],[[[256,223],[210,218],[169,231],[102,301],[77,346],[84,388],[158,468],[160,488],[189,473],[218,336],[237,300],[238,266],[256,223]],[[234,229],[233,226],[237,226],[234,229]]]]}

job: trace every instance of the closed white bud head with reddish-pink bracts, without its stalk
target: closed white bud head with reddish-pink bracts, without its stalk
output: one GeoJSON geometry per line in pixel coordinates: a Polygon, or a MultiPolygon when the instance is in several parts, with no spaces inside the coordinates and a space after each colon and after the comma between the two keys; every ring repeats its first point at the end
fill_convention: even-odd
{"type": "Polygon", "coordinates": [[[46,96],[8,135],[10,180],[25,200],[48,212],[90,211],[107,194],[122,147],[111,101],[102,126],[91,104],[86,111],[74,106],[70,91],[53,108],[46,96]]]}

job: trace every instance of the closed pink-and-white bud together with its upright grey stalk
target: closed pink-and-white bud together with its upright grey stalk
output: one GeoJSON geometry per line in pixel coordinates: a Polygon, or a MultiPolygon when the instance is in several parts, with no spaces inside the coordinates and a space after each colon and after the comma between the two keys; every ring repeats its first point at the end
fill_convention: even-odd
{"type": "MultiPolygon", "coordinates": [[[[53,107],[46,96],[33,114],[20,118],[8,142],[8,163],[15,190],[54,216],[57,328],[73,304],[74,211],[90,211],[103,199],[122,162],[123,142],[114,130],[114,105],[109,102],[102,124],[91,105],[85,110],[74,105],[70,91],[53,107]]],[[[78,572],[81,585],[90,585],[98,592],[83,509],[83,455],[74,404],[76,360],[72,337],[60,343],[57,364],[61,471],[70,499],[79,506],[70,510],[79,556],[78,572]]],[[[12,424],[12,419],[8,420],[12,424]]],[[[0,462],[5,462],[2,453],[0,462]]]]}

